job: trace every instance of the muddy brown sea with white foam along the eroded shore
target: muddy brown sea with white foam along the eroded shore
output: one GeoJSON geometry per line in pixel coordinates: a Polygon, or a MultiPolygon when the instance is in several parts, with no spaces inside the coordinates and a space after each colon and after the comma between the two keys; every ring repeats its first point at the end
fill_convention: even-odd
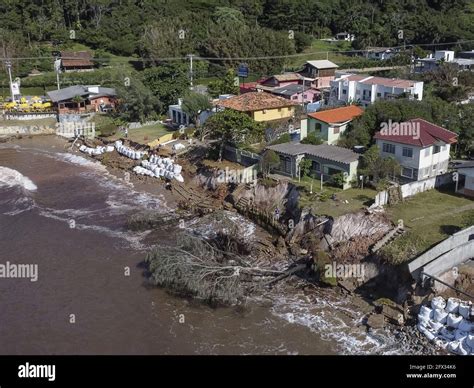
{"type": "Polygon", "coordinates": [[[0,278],[1,354],[403,352],[348,320],[344,300],[269,295],[242,311],[149,287],[140,263],[172,230],[134,233],[126,221],[173,209],[145,186],[53,136],[0,144],[0,264],[38,265],[36,282],[0,278]]]}

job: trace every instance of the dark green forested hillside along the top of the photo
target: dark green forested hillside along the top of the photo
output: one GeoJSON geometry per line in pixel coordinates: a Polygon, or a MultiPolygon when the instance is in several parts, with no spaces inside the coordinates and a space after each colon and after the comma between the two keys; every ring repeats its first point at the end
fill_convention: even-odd
{"type": "MultiPolygon", "coordinates": [[[[349,31],[354,48],[474,39],[469,0],[9,0],[0,4],[2,57],[44,57],[44,45],[86,44],[147,59],[193,53],[208,58],[285,56],[311,38],[349,31]],[[289,30],[293,34],[289,34],[289,30]],[[403,40],[398,31],[403,30],[403,40]]],[[[470,48],[466,45],[463,48],[470,48]]],[[[210,61],[221,69],[230,60],[210,61]]],[[[281,70],[284,59],[255,61],[281,70]]],[[[50,69],[51,61],[14,64],[50,69]]]]}

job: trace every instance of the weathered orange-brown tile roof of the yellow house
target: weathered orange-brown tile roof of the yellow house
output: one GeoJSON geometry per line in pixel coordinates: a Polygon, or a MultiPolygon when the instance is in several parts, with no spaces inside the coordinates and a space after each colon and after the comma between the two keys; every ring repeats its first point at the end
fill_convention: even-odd
{"type": "Polygon", "coordinates": [[[286,98],[265,92],[245,93],[240,96],[219,100],[216,104],[241,112],[253,112],[256,110],[285,108],[298,105],[298,103],[287,100],[286,98]]]}

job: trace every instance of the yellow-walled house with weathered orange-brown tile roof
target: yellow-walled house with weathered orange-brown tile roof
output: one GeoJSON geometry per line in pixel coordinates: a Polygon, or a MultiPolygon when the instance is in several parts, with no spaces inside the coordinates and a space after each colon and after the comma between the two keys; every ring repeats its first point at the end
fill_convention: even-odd
{"type": "Polygon", "coordinates": [[[292,117],[298,103],[265,92],[250,92],[219,100],[217,106],[247,113],[255,121],[273,121],[292,117]]]}

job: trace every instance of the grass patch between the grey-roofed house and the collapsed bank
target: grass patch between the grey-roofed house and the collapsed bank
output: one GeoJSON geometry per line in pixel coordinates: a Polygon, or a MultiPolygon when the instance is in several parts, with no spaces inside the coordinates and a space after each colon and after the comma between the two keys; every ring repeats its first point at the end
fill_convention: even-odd
{"type": "Polygon", "coordinates": [[[323,186],[323,191],[321,191],[320,181],[307,177],[303,178],[301,182],[294,180],[293,183],[302,188],[300,190],[300,206],[310,207],[314,214],[324,214],[332,217],[363,209],[373,201],[377,194],[372,189],[351,188],[342,190],[327,184],[323,186]],[[310,194],[311,184],[313,184],[313,194],[310,194]],[[336,200],[331,199],[333,194],[336,195],[336,200]],[[345,203],[346,200],[348,203],[345,203]]]}

